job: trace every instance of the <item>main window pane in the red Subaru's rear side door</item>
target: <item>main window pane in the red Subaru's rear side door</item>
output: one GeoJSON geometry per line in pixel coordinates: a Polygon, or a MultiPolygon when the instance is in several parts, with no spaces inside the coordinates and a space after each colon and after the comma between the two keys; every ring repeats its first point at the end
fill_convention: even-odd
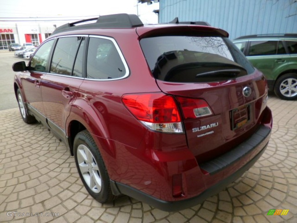
{"type": "Polygon", "coordinates": [[[50,73],[71,75],[82,37],[61,37],[53,53],[50,73]]]}

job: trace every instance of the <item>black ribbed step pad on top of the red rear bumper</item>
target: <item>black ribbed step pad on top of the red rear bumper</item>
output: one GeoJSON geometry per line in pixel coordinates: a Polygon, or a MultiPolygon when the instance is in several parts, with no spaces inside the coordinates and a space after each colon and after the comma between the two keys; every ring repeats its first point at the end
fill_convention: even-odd
{"type": "Polygon", "coordinates": [[[268,142],[268,136],[270,133],[270,128],[261,125],[260,128],[258,128],[258,130],[249,139],[239,144],[237,147],[230,150],[229,152],[224,153],[223,155],[211,161],[199,164],[199,167],[207,171],[210,175],[220,172],[226,167],[240,160],[242,157],[246,156],[248,153],[252,152],[255,147],[257,147],[261,143],[264,142],[266,144],[268,142]],[[265,142],[265,140],[267,142],[265,142]]]}

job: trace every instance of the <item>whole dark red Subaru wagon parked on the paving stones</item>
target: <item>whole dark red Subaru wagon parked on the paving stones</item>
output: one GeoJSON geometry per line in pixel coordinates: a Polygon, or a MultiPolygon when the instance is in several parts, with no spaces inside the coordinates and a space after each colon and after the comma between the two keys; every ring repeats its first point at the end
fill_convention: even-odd
{"type": "Polygon", "coordinates": [[[96,200],[184,209],[262,155],[267,82],[227,32],[128,14],[81,22],[57,28],[28,66],[15,63],[14,89],[23,120],[65,142],[96,200]]]}

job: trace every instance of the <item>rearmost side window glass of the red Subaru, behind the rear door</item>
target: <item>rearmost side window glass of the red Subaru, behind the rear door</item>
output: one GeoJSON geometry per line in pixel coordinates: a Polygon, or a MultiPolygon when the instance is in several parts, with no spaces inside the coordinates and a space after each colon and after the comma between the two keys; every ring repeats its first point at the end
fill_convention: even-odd
{"type": "Polygon", "coordinates": [[[122,78],[125,75],[125,65],[113,41],[90,37],[86,78],[106,80],[122,78]]]}

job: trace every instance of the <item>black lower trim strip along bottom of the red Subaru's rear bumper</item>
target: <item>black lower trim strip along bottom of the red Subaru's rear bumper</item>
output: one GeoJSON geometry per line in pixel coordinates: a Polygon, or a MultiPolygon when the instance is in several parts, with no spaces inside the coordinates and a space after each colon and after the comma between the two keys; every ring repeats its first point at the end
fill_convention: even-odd
{"type": "Polygon", "coordinates": [[[236,172],[228,176],[227,178],[223,179],[222,181],[218,182],[217,184],[211,186],[207,190],[203,191],[201,194],[199,194],[196,197],[192,197],[186,200],[179,200],[179,201],[164,201],[157,199],[149,194],[143,193],[142,191],[139,191],[135,188],[132,188],[130,186],[127,186],[125,184],[119,183],[119,182],[113,182],[116,184],[117,188],[121,192],[121,194],[126,194],[130,197],[133,197],[137,200],[146,202],[148,205],[154,206],[156,208],[159,208],[163,211],[179,211],[186,208],[190,208],[192,206],[198,205],[205,201],[208,197],[211,197],[220,191],[222,191],[226,186],[228,186],[230,183],[237,180],[239,177],[241,177],[244,172],[246,172],[249,168],[251,168],[255,162],[262,156],[264,153],[266,147],[268,145],[265,145],[263,149],[255,156],[253,157],[247,164],[245,164],[243,167],[238,169],[236,172]]]}

